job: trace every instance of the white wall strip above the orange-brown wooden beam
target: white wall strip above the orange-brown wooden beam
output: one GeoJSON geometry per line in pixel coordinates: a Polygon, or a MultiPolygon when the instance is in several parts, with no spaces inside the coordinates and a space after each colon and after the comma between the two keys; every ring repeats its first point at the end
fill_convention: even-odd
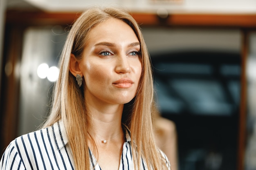
{"type": "Polygon", "coordinates": [[[86,7],[121,5],[131,11],[169,13],[256,13],[256,0],[25,0],[48,11],[83,11],[86,7]],[[155,3],[158,1],[159,3],[155,3]]]}

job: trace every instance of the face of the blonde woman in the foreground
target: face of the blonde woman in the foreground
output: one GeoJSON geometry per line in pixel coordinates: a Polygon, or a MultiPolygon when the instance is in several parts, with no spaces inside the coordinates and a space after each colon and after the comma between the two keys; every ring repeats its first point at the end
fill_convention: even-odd
{"type": "Polygon", "coordinates": [[[135,97],[141,77],[139,40],[128,24],[110,18],[89,32],[79,66],[86,101],[128,103],[135,97]]]}

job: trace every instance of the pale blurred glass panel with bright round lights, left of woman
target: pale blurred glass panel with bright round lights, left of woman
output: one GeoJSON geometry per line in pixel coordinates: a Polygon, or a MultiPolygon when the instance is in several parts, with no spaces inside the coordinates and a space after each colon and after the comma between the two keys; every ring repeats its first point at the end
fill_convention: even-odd
{"type": "Polygon", "coordinates": [[[20,63],[18,135],[36,130],[47,117],[52,82],[58,76],[56,66],[66,36],[61,26],[29,28],[25,32],[20,63]]]}

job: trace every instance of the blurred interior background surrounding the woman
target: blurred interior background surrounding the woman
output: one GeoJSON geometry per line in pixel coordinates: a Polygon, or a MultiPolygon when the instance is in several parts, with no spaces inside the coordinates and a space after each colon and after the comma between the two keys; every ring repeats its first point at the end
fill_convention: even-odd
{"type": "Polygon", "coordinates": [[[47,117],[67,32],[95,4],[140,24],[178,169],[256,170],[256,0],[0,0],[0,156],[47,117]]]}

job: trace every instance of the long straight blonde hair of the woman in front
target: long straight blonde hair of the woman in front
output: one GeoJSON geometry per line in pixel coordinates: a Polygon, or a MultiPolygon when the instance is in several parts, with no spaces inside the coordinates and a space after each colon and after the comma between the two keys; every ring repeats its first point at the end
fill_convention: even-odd
{"type": "Polygon", "coordinates": [[[149,169],[167,169],[154,140],[151,119],[151,104],[153,101],[153,78],[151,62],[146,44],[137,22],[132,16],[121,9],[95,7],[88,9],[74,22],[59,62],[60,75],[54,86],[52,108],[43,125],[54,124],[62,119],[67,131],[69,145],[72,149],[77,170],[90,169],[90,157],[86,136],[89,132],[87,111],[85,107],[84,84],[81,88],[76,84],[75,77],[69,71],[70,54],[78,60],[83,55],[88,33],[97,24],[108,18],[116,18],[126,22],[135,32],[141,44],[142,73],[135,98],[125,104],[122,121],[131,132],[132,158],[135,169],[140,168],[141,157],[149,169]]]}

